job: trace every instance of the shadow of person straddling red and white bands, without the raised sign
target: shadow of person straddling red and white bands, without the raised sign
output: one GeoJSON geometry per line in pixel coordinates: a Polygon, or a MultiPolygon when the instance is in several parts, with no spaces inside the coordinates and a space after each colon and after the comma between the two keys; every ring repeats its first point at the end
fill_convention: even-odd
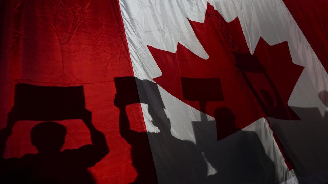
{"type": "MultiPolygon", "coordinates": [[[[141,183],[141,181],[153,183],[148,180],[149,173],[155,171],[153,156],[149,144],[147,143],[147,149],[145,149],[145,142],[141,142],[141,140],[146,139],[144,137],[147,135],[149,140],[153,142],[152,151],[154,152],[154,160],[156,160],[156,169],[160,171],[157,175],[159,181],[171,184],[204,182],[207,177],[207,165],[204,156],[193,142],[180,140],[172,135],[171,122],[164,109],[148,106],[148,112],[153,119],[152,124],[160,130],[159,133],[138,133],[130,129],[125,104],[122,102],[122,97],[116,95],[114,103],[120,109],[120,133],[132,146],[133,167],[138,172],[134,183],[141,183]],[[147,154],[147,158],[144,154],[147,154]]],[[[148,141],[148,138],[146,140],[148,141]]]]}

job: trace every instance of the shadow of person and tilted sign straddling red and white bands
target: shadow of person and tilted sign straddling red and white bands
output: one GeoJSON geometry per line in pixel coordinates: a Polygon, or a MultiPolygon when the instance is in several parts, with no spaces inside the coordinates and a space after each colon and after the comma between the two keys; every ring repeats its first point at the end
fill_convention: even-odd
{"type": "Polygon", "coordinates": [[[195,143],[172,135],[171,121],[164,111],[165,106],[157,84],[134,77],[114,78],[114,81],[117,91],[114,104],[121,111],[120,133],[132,146],[132,164],[138,173],[134,183],[157,183],[154,166],[160,183],[187,184],[205,181],[207,166],[204,157],[195,143]],[[138,90],[135,83],[138,84],[138,90]],[[138,92],[141,94],[140,99],[138,92]],[[150,123],[159,132],[138,132],[134,136],[135,132],[130,128],[125,111],[125,106],[133,103],[148,105],[148,114],[152,118],[150,123]]]}

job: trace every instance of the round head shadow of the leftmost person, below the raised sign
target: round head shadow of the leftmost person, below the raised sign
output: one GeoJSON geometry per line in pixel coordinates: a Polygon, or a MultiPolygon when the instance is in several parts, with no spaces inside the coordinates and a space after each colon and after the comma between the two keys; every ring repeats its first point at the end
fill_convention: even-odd
{"type": "Polygon", "coordinates": [[[42,122],[31,130],[31,142],[39,153],[60,152],[66,136],[66,127],[55,122],[42,122]]]}

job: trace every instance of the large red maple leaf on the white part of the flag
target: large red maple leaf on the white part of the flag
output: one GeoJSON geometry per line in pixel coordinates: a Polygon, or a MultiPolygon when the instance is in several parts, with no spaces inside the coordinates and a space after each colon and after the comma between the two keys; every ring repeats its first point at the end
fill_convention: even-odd
{"type": "Polygon", "coordinates": [[[227,23],[210,4],[204,23],[189,22],[209,58],[179,43],[175,53],[148,46],[162,71],[154,81],[215,117],[218,140],[261,117],[298,119],[287,103],[304,67],[292,62],[287,42],[260,38],[252,55],[239,19],[227,23]]]}

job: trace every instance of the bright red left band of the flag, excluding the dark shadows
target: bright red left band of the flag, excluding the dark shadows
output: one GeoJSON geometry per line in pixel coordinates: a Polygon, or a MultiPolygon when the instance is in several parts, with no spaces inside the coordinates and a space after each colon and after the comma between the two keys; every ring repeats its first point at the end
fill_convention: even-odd
{"type": "MultiPolygon", "coordinates": [[[[113,78],[133,76],[118,1],[17,0],[0,4],[0,128],[5,127],[13,105],[15,84],[83,85],[86,109],[92,112],[93,124],[104,133],[110,149],[89,172],[96,183],[133,182],[137,173],[131,164],[131,146],[119,133],[119,111],[113,105],[113,78]]],[[[128,106],[127,113],[131,128],[144,132],[140,105],[128,106]]],[[[4,157],[37,153],[30,139],[37,123],[15,124],[4,157]]],[[[81,120],[58,123],[68,132],[63,149],[91,143],[81,120]]]]}

